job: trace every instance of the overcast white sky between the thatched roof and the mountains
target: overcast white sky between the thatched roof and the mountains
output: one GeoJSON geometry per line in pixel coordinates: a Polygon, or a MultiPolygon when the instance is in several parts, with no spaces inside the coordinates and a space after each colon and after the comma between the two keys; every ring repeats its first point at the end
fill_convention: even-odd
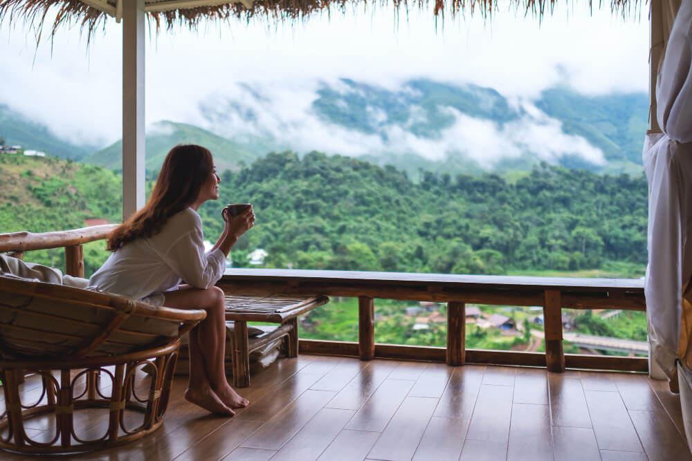
{"type": "MultiPolygon", "coordinates": [[[[447,15],[444,23],[435,20],[432,10],[397,15],[376,6],[298,23],[232,21],[203,23],[196,32],[152,32],[146,50],[147,124],[174,120],[205,126],[199,104],[242,98],[244,84],[262,94],[269,111],[264,129],[273,129],[273,135],[286,133],[289,141],[300,140],[306,149],[329,143],[348,147],[354,144],[353,133],[336,133],[329,126],[315,129],[316,119],[309,113],[319,85],[338,84],[343,77],[394,91],[418,77],[472,83],[495,88],[518,104],[531,104],[545,88],[558,84],[589,95],[648,91],[646,10],[622,19],[611,15],[609,6],[594,7],[590,13],[586,1],[558,3],[552,16],[540,23],[509,6],[500,6],[491,20],[447,15]],[[282,123],[295,129],[274,129],[282,123]]],[[[4,23],[0,104],[65,138],[98,146],[114,142],[122,124],[121,44],[121,26],[114,19],[107,21],[104,32],[96,32],[88,47],[78,28],[63,28],[52,44],[44,37],[36,47],[26,26],[4,23]]],[[[462,115],[457,120],[470,132],[468,142],[474,142],[474,132],[497,138],[492,126],[475,129],[462,115]]],[[[536,130],[537,135],[558,136],[560,126],[543,118],[535,115],[531,126],[522,127],[521,132],[529,134],[500,133],[500,138],[516,144],[521,142],[517,136],[536,130]]],[[[232,128],[257,130],[242,120],[232,128]]],[[[556,140],[557,147],[547,149],[582,141],[556,140]]],[[[506,150],[502,142],[499,149],[506,150]]],[[[421,155],[430,149],[435,146],[421,146],[421,155]]],[[[579,149],[599,161],[592,147],[579,149]]]]}

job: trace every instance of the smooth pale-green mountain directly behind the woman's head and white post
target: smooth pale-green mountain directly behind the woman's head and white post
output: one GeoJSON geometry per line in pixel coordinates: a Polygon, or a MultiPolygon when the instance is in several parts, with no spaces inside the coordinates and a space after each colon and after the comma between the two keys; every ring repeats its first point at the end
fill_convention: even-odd
{"type": "MultiPolygon", "coordinates": [[[[242,164],[250,164],[260,153],[247,149],[242,144],[222,138],[210,131],[185,123],[163,120],[147,127],[146,168],[161,168],[171,147],[176,144],[191,143],[207,147],[214,154],[217,169],[236,171],[242,164]]],[[[266,153],[266,152],[263,152],[266,153]]],[[[109,169],[122,169],[122,140],[105,149],[91,153],[82,159],[85,163],[96,164],[109,169]]]]}

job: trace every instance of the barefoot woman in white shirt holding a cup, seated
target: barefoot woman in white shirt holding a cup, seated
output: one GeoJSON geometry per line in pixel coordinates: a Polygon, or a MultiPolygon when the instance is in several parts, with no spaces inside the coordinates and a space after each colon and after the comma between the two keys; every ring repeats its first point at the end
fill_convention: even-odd
{"type": "Polygon", "coordinates": [[[224,213],[224,232],[204,252],[197,214],[206,200],[219,198],[212,154],[194,144],[166,156],[149,202],[109,236],[113,254],[91,276],[91,288],[179,309],[204,309],[207,317],[190,331],[190,382],[185,399],[212,413],[235,415],[248,405],[226,380],[224,274],[231,247],[255,223],[250,208],[235,218],[224,213]]]}

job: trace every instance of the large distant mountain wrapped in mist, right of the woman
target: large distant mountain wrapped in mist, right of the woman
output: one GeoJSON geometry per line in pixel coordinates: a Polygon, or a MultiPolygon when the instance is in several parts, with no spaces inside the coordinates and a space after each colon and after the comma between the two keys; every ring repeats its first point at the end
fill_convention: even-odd
{"type": "Polygon", "coordinates": [[[448,173],[531,169],[540,161],[597,172],[641,172],[646,93],[538,97],[412,79],[385,88],[353,79],[305,88],[238,84],[199,104],[204,126],[257,149],[317,150],[448,173]],[[259,140],[259,142],[258,142],[259,140]]]}

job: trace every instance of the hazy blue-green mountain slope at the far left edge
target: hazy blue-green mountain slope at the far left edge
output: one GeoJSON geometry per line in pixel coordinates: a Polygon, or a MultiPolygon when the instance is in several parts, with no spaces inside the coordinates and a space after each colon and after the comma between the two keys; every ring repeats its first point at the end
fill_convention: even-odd
{"type": "Polygon", "coordinates": [[[51,156],[80,159],[93,152],[94,147],[76,144],[55,135],[47,126],[39,124],[5,104],[0,104],[0,137],[5,144],[24,149],[43,151],[51,156]]]}

